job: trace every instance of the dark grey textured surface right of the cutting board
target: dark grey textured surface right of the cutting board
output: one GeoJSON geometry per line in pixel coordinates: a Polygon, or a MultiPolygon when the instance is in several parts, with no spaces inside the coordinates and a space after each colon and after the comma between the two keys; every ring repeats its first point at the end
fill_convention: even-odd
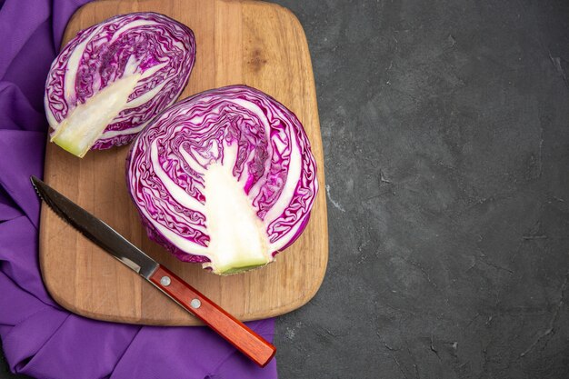
{"type": "Polygon", "coordinates": [[[330,228],[280,378],[569,378],[569,2],[278,3],[311,48],[330,228]]]}

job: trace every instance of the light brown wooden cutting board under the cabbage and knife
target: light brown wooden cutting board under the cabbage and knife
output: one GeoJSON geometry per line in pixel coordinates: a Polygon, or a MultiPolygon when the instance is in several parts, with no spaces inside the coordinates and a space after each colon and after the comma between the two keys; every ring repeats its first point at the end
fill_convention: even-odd
{"type": "MultiPolygon", "coordinates": [[[[181,98],[209,88],[245,84],[274,96],[303,123],[318,165],[320,190],[304,234],[276,262],[232,276],[185,264],[143,230],[125,183],[129,147],[89,152],[80,159],[54,144],[45,152],[45,182],[110,224],[241,320],[284,314],[308,302],[324,278],[328,234],[324,160],[314,76],[304,31],[287,9],[263,2],[224,0],[105,0],[80,8],[65,32],[137,11],[169,15],[194,30],[194,71],[181,98]]],[[[40,264],[55,301],[87,317],[160,325],[200,324],[140,276],[42,208],[40,264]]]]}

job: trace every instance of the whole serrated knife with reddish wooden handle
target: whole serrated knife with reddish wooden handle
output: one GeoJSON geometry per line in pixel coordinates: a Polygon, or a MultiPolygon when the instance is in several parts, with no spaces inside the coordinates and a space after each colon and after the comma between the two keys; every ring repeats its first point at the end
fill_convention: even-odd
{"type": "Polygon", "coordinates": [[[255,364],[265,367],[275,356],[276,348],[273,344],[265,341],[262,336],[225,312],[165,266],[158,264],[112,227],[35,176],[32,176],[31,180],[37,194],[55,211],[55,214],[98,244],[108,254],[140,274],[187,312],[194,314],[255,364]]]}

